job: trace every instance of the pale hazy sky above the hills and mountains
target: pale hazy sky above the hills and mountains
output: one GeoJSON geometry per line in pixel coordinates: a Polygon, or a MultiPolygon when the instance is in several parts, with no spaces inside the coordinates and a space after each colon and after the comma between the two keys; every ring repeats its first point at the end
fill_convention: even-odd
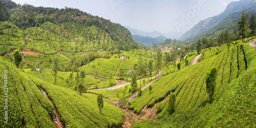
{"type": "Polygon", "coordinates": [[[78,8],[122,26],[143,31],[185,32],[200,20],[223,12],[239,0],[13,0],[33,6],[78,8]]]}

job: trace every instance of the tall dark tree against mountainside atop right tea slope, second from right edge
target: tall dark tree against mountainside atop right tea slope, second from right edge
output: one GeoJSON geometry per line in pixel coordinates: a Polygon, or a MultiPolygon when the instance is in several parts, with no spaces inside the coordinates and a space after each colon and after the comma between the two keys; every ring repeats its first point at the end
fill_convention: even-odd
{"type": "Polygon", "coordinates": [[[244,38],[246,35],[246,32],[248,31],[248,23],[247,23],[247,14],[242,13],[242,17],[240,18],[240,20],[238,21],[239,24],[239,34],[242,36],[242,41],[244,42],[244,38]]]}

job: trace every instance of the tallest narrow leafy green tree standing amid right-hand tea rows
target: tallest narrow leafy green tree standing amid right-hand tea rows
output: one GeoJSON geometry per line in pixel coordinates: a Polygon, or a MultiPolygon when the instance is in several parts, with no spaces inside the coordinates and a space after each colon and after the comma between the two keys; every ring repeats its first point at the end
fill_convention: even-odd
{"type": "Polygon", "coordinates": [[[217,69],[214,67],[207,73],[205,78],[206,92],[208,93],[209,100],[211,101],[211,103],[214,96],[216,78],[217,78],[217,69]]]}

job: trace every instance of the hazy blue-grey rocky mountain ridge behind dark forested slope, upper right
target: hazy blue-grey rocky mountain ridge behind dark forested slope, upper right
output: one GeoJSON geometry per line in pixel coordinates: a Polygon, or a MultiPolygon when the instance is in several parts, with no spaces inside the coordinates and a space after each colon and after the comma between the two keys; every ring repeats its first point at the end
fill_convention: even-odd
{"type": "Polygon", "coordinates": [[[215,26],[219,25],[229,14],[235,12],[241,12],[245,8],[248,8],[254,3],[255,0],[241,0],[239,2],[231,2],[228,4],[226,10],[221,14],[209,17],[207,19],[201,20],[197,25],[195,25],[192,29],[187,31],[183,34],[180,40],[186,39],[194,39],[197,38],[199,35],[205,34],[207,30],[214,28],[215,26]]]}

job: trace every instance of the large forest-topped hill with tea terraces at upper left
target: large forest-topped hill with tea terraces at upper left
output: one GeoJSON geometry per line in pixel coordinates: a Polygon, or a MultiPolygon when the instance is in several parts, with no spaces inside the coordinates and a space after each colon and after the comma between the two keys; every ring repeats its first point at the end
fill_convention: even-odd
{"type": "Polygon", "coordinates": [[[27,47],[31,51],[39,51],[43,54],[54,54],[58,51],[94,52],[114,51],[114,49],[129,51],[139,47],[131,33],[120,24],[112,23],[110,20],[93,16],[79,9],[21,6],[10,0],[3,0],[3,3],[6,5],[10,17],[8,22],[1,24],[10,26],[8,24],[13,23],[18,27],[0,29],[2,31],[0,45],[3,45],[4,49],[14,45],[27,47]],[[13,33],[17,31],[20,33],[18,39],[17,37],[6,37],[7,35],[16,36],[13,33]],[[16,40],[20,40],[19,42],[24,44],[18,45],[16,40]],[[13,41],[14,43],[12,43],[13,41]],[[38,43],[39,41],[41,43],[38,43]],[[6,42],[7,45],[4,45],[6,42]],[[27,44],[27,42],[29,43],[27,44]],[[37,48],[33,48],[35,46],[37,48]],[[42,46],[47,47],[45,48],[47,50],[43,50],[42,46]]]}

